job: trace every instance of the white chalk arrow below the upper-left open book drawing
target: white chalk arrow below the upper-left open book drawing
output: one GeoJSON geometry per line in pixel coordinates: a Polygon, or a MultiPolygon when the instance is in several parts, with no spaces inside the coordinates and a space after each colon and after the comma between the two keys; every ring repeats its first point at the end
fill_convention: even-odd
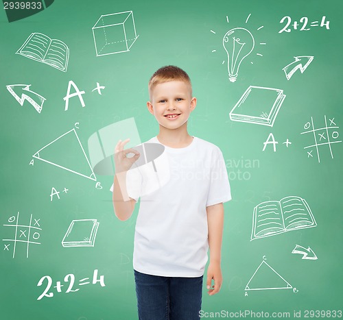
{"type": "Polygon", "coordinates": [[[10,94],[23,106],[24,101],[27,100],[29,103],[34,106],[38,113],[42,111],[43,103],[46,100],[38,93],[29,90],[31,84],[10,84],[6,86],[7,90],[10,91],[10,94]]]}

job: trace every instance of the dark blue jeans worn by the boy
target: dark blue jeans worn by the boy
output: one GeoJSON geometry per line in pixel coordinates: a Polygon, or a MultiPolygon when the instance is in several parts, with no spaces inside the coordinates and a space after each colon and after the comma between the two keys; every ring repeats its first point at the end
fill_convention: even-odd
{"type": "Polygon", "coordinates": [[[161,277],[134,270],[139,320],[198,320],[202,276],[161,277]]]}

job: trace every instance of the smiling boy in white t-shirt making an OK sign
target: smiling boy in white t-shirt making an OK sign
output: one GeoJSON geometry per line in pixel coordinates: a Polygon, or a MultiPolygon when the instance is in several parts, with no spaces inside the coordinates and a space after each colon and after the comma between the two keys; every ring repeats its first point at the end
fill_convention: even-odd
{"type": "MultiPolygon", "coordinates": [[[[159,133],[147,143],[164,145],[170,177],[158,190],[141,196],[133,258],[139,319],[199,319],[208,248],[209,295],[222,285],[223,202],[231,199],[228,175],[220,149],[187,132],[196,108],[187,73],[176,66],[158,69],[150,78],[149,95],[147,109],[158,121],[159,133]]],[[[139,198],[128,173],[140,154],[123,149],[128,140],[115,147],[113,207],[120,220],[131,216],[139,198]]]]}

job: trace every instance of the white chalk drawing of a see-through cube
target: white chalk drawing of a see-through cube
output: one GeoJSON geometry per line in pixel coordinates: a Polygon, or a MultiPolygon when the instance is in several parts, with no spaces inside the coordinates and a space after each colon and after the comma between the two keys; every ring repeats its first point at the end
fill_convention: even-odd
{"type": "Polygon", "coordinates": [[[92,29],[97,56],[130,51],[138,38],[132,11],[104,14],[92,29]]]}

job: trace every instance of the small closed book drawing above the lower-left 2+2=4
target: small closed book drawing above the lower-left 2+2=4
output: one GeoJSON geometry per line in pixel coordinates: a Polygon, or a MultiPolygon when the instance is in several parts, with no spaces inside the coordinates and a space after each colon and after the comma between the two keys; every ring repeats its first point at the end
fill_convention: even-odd
{"type": "Polygon", "coordinates": [[[97,219],[73,220],[62,240],[63,247],[94,247],[97,219]]]}

